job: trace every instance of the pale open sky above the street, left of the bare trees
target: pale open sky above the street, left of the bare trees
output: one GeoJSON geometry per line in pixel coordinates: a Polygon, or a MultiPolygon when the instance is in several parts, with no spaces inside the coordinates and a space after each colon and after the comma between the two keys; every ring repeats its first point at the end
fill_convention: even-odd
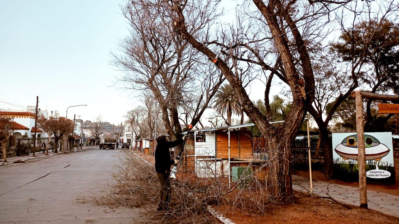
{"type": "MultiPolygon", "coordinates": [[[[113,86],[110,51],[128,35],[123,0],[0,1],[0,101],[111,123],[136,100],[113,86]],[[111,86],[111,87],[109,87],[111,86]]],[[[24,108],[0,102],[0,108],[24,108]]]]}

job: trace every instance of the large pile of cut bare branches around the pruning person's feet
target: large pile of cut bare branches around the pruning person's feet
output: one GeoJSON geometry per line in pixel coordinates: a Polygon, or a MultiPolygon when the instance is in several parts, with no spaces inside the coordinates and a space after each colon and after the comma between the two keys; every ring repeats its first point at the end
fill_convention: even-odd
{"type": "Polygon", "coordinates": [[[156,212],[159,183],[152,164],[127,155],[118,169],[113,174],[115,183],[93,200],[109,206],[140,207],[148,214],[159,215],[162,222],[211,223],[215,217],[208,212],[209,205],[226,204],[226,210],[240,210],[249,215],[265,214],[275,205],[265,183],[257,180],[255,173],[246,177],[251,181],[237,181],[229,186],[227,177],[194,178],[193,171],[184,171],[179,172],[177,180],[171,179],[169,209],[156,212]]]}

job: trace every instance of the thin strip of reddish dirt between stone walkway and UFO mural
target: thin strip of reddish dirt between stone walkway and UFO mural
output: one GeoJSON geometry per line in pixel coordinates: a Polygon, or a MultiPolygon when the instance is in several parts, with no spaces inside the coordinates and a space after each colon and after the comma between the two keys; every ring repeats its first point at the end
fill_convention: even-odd
{"type": "MultiPolygon", "coordinates": [[[[399,196],[399,157],[393,159],[395,166],[395,185],[378,185],[373,183],[367,183],[367,190],[378,191],[382,193],[387,193],[390,195],[399,196]]],[[[295,175],[309,178],[309,171],[295,171],[295,175]]],[[[329,183],[341,184],[352,187],[359,187],[358,182],[341,181],[337,179],[325,179],[324,174],[321,171],[312,171],[312,179],[316,181],[325,181],[329,183]]]]}

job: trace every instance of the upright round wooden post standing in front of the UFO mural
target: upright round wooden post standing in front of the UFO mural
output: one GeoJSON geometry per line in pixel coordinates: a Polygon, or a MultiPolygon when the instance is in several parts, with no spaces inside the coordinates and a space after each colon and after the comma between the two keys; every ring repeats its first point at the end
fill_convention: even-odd
{"type": "Polygon", "coordinates": [[[360,207],[367,208],[367,185],[366,185],[366,156],[363,133],[363,101],[361,92],[355,92],[356,102],[356,132],[358,136],[358,166],[359,166],[359,198],[360,207]]]}

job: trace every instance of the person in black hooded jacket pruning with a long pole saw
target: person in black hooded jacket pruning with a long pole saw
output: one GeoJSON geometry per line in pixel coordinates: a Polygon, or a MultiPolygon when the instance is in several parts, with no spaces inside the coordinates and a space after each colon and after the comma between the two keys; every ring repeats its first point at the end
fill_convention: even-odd
{"type": "Polygon", "coordinates": [[[158,138],[156,138],[155,171],[160,185],[159,203],[156,208],[157,211],[169,209],[170,192],[172,190],[170,188],[169,180],[170,166],[179,163],[177,159],[170,158],[169,148],[173,148],[180,143],[183,143],[185,138],[186,136],[175,141],[166,141],[166,136],[158,136],[158,138]]]}

